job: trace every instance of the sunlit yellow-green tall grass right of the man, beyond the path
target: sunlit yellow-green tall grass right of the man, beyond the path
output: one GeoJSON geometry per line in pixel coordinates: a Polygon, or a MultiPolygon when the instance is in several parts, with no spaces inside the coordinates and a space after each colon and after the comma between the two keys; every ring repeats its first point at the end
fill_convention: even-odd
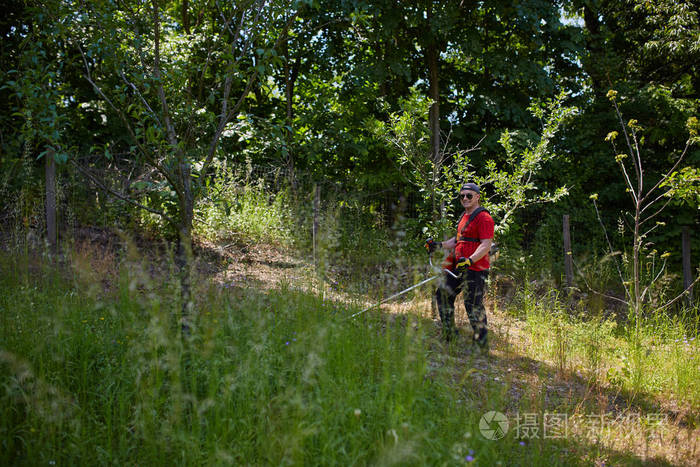
{"type": "MultiPolygon", "coordinates": [[[[526,283],[527,284],[527,283],[526,283]]],[[[544,296],[525,285],[508,311],[525,322],[533,356],[562,372],[585,373],[596,384],[633,396],[673,398],[700,405],[700,312],[654,313],[636,334],[634,320],[618,323],[588,308],[572,310],[556,291],[544,296]]]]}

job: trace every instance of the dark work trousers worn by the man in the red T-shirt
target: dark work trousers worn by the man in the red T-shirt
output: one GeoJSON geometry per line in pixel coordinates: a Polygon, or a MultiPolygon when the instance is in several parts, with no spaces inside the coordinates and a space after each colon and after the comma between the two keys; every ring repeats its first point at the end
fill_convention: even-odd
{"type": "Polygon", "coordinates": [[[454,278],[445,273],[435,292],[440,320],[442,321],[445,338],[450,340],[457,334],[455,328],[455,299],[459,292],[464,292],[464,307],[467,309],[469,323],[474,330],[474,340],[481,345],[486,344],[486,309],[484,308],[484,290],[488,269],[472,271],[468,269],[461,278],[454,278]]]}

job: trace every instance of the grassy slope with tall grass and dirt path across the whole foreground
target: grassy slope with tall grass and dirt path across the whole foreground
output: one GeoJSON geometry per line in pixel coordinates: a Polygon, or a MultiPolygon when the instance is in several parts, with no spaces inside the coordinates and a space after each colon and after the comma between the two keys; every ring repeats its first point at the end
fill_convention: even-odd
{"type": "Polygon", "coordinates": [[[493,349],[479,356],[466,339],[444,346],[420,297],[347,320],[357,308],[312,292],[303,274],[264,287],[295,270],[271,251],[220,259],[209,271],[187,345],[174,325],[176,284],[138,258],[120,259],[117,272],[100,269],[104,255],[77,255],[57,273],[40,259],[5,255],[0,463],[698,459],[697,343],[674,343],[678,327],[633,353],[610,325],[551,313],[558,302],[528,302],[525,292],[517,310],[492,311],[493,349]],[[261,270],[268,276],[255,275],[261,270]],[[653,384],[651,370],[663,375],[653,384]],[[509,417],[504,439],[479,434],[490,410],[509,417]],[[544,438],[552,413],[568,417],[566,436],[544,438]],[[657,413],[666,416],[659,425],[649,417],[657,413]],[[535,414],[538,437],[518,436],[518,414],[535,414]],[[601,414],[608,418],[593,430],[601,414]]]}

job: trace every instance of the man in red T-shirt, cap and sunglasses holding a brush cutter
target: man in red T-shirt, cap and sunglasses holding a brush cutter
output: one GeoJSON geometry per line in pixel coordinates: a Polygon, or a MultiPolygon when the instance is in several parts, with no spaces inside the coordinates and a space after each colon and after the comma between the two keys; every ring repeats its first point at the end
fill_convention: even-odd
{"type": "Polygon", "coordinates": [[[445,273],[438,286],[437,299],[440,320],[446,340],[457,335],[454,318],[454,303],[457,294],[464,291],[464,306],[469,323],[474,330],[474,342],[482,349],[488,348],[484,289],[489,274],[489,250],[493,242],[494,223],[488,211],[479,205],[481,190],[475,183],[465,183],[459,192],[464,214],[457,225],[457,235],[444,242],[428,240],[429,252],[437,247],[454,249],[448,257],[448,269],[456,278],[445,273]]]}

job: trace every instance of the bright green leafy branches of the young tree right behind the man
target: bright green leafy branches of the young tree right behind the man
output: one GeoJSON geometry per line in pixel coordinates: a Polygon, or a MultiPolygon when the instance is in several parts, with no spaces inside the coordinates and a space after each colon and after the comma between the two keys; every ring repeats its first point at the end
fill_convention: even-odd
{"type": "MultiPolygon", "coordinates": [[[[556,158],[552,150],[555,133],[576,109],[565,107],[566,94],[545,103],[530,107],[535,117],[542,121],[542,134],[535,141],[525,139],[516,148],[515,139],[520,133],[504,132],[500,143],[505,149],[505,164],[499,166],[495,159],[486,161],[481,169],[474,169],[469,152],[458,150],[448,153],[445,147],[438,160],[428,156],[430,133],[427,127],[430,101],[416,90],[411,97],[401,101],[401,111],[389,114],[388,122],[372,120],[372,131],[389,145],[389,153],[395,158],[406,179],[423,198],[422,219],[428,230],[441,232],[451,225],[451,215],[445,215],[438,223],[431,223],[437,204],[449,205],[454,193],[466,180],[473,180],[488,190],[483,203],[497,219],[497,233],[507,232],[512,215],[533,204],[556,202],[565,196],[566,186],[553,192],[542,192],[536,185],[543,167],[556,158]],[[425,207],[427,205],[427,207],[425,207]]],[[[447,143],[445,143],[447,144],[447,143]]]]}

